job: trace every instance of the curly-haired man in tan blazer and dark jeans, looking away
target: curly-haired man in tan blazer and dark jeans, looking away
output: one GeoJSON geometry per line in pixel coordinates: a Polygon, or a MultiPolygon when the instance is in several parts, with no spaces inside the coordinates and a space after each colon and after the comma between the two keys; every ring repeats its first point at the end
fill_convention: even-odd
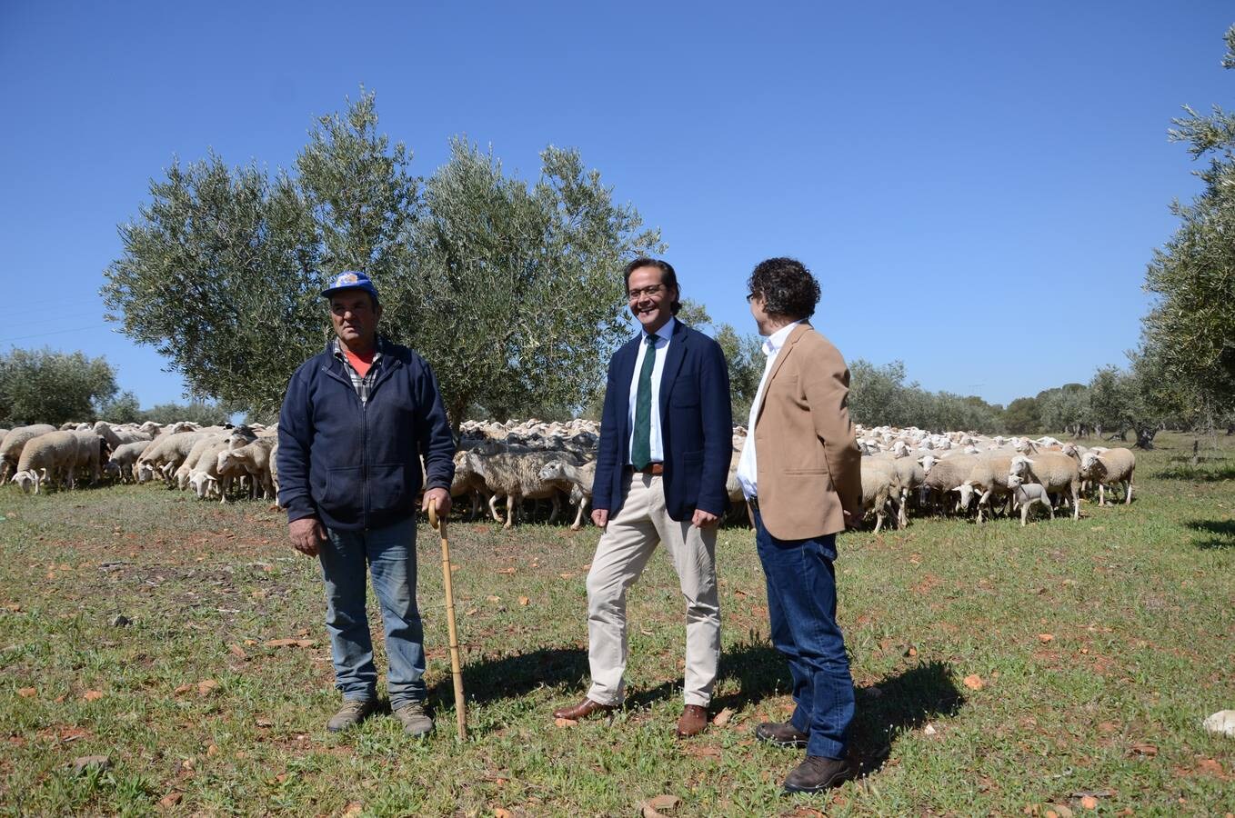
{"type": "Polygon", "coordinates": [[[767,364],[751,406],[737,479],[755,521],[767,576],[772,644],[789,661],[797,707],[788,722],[755,735],[804,748],[788,792],[819,792],[851,775],[846,754],[853,679],[836,624],[836,533],[862,517],[861,453],[848,418],[848,369],[806,321],[819,283],[790,258],[773,258],[748,280],[751,315],[767,364]]]}

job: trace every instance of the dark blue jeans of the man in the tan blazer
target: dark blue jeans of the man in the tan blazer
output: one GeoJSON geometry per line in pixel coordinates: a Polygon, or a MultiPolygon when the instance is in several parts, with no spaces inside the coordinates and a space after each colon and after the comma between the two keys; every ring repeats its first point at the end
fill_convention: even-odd
{"type": "Polygon", "coordinates": [[[789,723],[808,733],[806,755],[844,759],[853,721],[853,677],[836,624],[836,535],[777,539],[755,512],[755,544],[768,582],[772,644],[789,660],[789,723]]]}

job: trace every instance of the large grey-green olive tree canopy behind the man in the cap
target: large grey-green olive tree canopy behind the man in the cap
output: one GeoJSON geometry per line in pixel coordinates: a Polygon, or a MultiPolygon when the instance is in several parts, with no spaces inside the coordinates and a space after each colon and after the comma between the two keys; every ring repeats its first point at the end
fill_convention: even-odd
{"type": "Polygon", "coordinates": [[[618,270],[663,249],[574,151],[548,147],[534,183],[459,138],[427,179],[378,131],[373,94],[320,117],[295,173],[173,162],[120,227],[103,295],[125,334],[165,355],[195,395],[261,415],[331,337],[320,291],[359,269],[380,329],[433,366],[447,412],[579,407],[626,334],[618,270]]]}

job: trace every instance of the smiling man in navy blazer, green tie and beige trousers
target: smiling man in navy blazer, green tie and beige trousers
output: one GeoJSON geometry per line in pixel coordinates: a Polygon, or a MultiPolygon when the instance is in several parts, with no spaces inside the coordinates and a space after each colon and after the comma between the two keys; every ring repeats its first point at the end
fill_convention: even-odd
{"type": "Polygon", "coordinates": [[[609,361],[592,519],[604,534],[588,572],[592,687],[556,718],[621,704],[626,591],[664,543],[687,600],[685,706],[679,737],[708,725],[720,661],[716,523],[727,506],[732,457],[729,369],[720,344],[677,321],[673,266],[650,258],[625,269],[631,313],[642,326],[609,361]]]}

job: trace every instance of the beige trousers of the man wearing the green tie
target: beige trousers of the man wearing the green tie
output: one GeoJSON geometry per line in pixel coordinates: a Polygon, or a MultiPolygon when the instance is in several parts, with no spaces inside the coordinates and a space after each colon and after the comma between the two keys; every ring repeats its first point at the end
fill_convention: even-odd
{"type": "Polygon", "coordinates": [[[588,698],[620,704],[626,672],[626,590],[664,543],[687,600],[687,704],[706,707],[720,663],[716,528],[678,522],[664,508],[659,476],[631,474],[626,501],[609,519],[588,571],[588,698]]]}

